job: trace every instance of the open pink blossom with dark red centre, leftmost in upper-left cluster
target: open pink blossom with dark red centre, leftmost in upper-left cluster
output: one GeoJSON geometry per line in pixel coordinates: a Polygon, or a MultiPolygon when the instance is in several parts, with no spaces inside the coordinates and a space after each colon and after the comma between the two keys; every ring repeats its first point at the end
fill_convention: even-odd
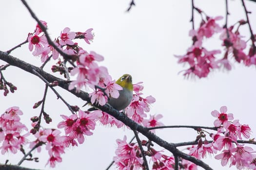
{"type": "Polygon", "coordinates": [[[32,51],[35,46],[35,51],[33,51],[32,54],[34,56],[38,56],[42,53],[43,46],[47,44],[47,39],[45,35],[38,36],[38,35],[29,34],[28,42],[29,42],[28,44],[29,51],[32,51]]]}

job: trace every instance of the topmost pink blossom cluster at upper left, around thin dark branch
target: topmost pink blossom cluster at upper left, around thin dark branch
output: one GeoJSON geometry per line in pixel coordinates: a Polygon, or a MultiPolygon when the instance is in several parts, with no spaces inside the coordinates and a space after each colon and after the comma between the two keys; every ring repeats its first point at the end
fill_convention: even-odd
{"type": "MultiPolygon", "coordinates": [[[[40,20],[41,24],[47,28],[47,23],[45,21],[40,20]]],[[[72,48],[73,46],[77,46],[72,40],[75,38],[82,38],[86,43],[90,44],[89,41],[93,39],[92,28],[86,30],[84,33],[78,32],[70,32],[70,28],[66,27],[60,33],[60,36],[54,41],[54,44],[63,52],[67,54],[75,54],[76,51],[72,48]],[[63,49],[66,47],[66,49],[63,49]]],[[[58,59],[59,52],[53,48],[53,46],[49,45],[47,42],[47,38],[40,28],[39,24],[36,25],[36,29],[34,33],[28,34],[28,42],[29,42],[29,50],[33,51],[34,56],[40,56],[41,62],[45,62],[47,58],[51,55],[54,60],[58,59]]]]}

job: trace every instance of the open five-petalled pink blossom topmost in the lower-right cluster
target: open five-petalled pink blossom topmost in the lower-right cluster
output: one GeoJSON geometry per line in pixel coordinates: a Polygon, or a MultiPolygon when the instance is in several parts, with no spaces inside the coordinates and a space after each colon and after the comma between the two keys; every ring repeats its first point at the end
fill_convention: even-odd
{"type": "Polygon", "coordinates": [[[218,118],[217,120],[214,121],[214,126],[219,127],[220,125],[223,125],[224,128],[227,128],[231,123],[229,120],[233,120],[233,114],[229,113],[226,114],[227,112],[227,107],[226,106],[221,106],[220,107],[220,113],[217,110],[212,111],[212,116],[215,118],[218,118]]]}

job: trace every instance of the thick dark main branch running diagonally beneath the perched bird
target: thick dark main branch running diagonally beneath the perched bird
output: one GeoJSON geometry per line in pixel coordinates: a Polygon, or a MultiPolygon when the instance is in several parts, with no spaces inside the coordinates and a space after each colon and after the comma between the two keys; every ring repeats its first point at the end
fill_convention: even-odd
{"type": "MultiPolygon", "coordinates": [[[[33,72],[33,69],[36,70],[42,77],[44,77],[44,79],[46,79],[48,82],[53,82],[53,81],[58,81],[59,82],[59,86],[69,92],[71,92],[72,94],[74,94],[75,96],[79,97],[80,99],[90,102],[90,97],[89,94],[84,92],[84,91],[80,91],[79,93],[76,92],[75,89],[73,90],[68,90],[68,82],[65,80],[62,80],[58,77],[55,77],[45,71],[43,71],[42,69],[33,66],[29,63],[26,63],[16,57],[13,57],[11,55],[8,55],[6,52],[0,51],[0,60],[3,60],[5,62],[7,62],[8,64],[12,65],[12,66],[16,66],[18,68],[21,68],[31,74],[36,75],[33,72]]],[[[205,170],[212,170],[211,167],[209,167],[209,165],[207,165],[206,163],[204,163],[201,160],[198,160],[197,158],[190,156],[186,153],[182,153],[181,151],[177,150],[176,146],[174,143],[168,143],[167,141],[161,139],[160,137],[156,136],[155,134],[151,133],[148,128],[143,127],[141,125],[139,125],[138,123],[136,123],[135,121],[133,121],[132,119],[129,119],[127,116],[125,116],[124,114],[120,113],[118,110],[114,109],[112,106],[105,104],[103,106],[96,106],[98,107],[100,110],[110,114],[111,116],[115,117],[116,119],[122,121],[125,125],[129,126],[131,128],[131,130],[135,130],[138,131],[139,133],[141,133],[142,135],[146,136],[149,140],[154,141],[155,143],[157,143],[159,146],[167,149],[168,151],[170,151],[171,153],[173,153],[174,155],[177,155],[179,157],[182,157],[183,159],[186,159],[188,161],[191,161],[193,163],[195,163],[196,165],[204,168],[205,170]]]]}

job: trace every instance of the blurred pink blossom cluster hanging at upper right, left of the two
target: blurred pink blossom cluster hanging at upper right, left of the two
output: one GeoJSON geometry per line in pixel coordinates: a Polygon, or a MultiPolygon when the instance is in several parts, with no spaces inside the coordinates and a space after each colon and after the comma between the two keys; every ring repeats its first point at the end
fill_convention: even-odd
{"type": "Polygon", "coordinates": [[[191,30],[189,35],[192,36],[193,45],[187,50],[185,55],[178,57],[178,63],[188,63],[190,68],[185,70],[184,75],[197,75],[199,78],[207,77],[212,69],[218,68],[216,61],[216,54],[220,53],[219,50],[207,51],[202,47],[203,38],[209,38],[213,34],[220,32],[222,29],[216,23],[222,17],[211,18],[202,20],[201,26],[198,30],[191,30]]]}

